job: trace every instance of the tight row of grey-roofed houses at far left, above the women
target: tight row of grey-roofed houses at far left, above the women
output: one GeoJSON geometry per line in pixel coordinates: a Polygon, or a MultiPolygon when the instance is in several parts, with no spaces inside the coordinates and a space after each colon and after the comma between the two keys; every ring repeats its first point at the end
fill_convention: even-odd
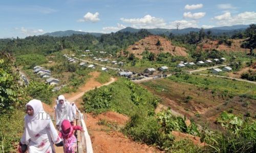
{"type": "Polygon", "coordinates": [[[48,83],[50,85],[59,84],[58,79],[55,79],[55,78],[51,77],[51,71],[50,70],[45,69],[44,67],[41,67],[41,66],[35,66],[35,67],[33,67],[33,71],[34,71],[34,73],[39,74],[41,78],[48,78],[46,80],[46,83],[48,83]]]}

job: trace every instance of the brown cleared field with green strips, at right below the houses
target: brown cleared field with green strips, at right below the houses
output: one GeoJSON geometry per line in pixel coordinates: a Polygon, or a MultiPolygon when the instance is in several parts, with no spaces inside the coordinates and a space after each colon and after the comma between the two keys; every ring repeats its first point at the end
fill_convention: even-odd
{"type": "Polygon", "coordinates": [[[223,111],[256,115],[255,85],[201,75],[184,76],[171,76],[142,85],[161,97],[164,106],[199,124],[208,122],[212,129],[218,128],[214,122],[223,111]]]}

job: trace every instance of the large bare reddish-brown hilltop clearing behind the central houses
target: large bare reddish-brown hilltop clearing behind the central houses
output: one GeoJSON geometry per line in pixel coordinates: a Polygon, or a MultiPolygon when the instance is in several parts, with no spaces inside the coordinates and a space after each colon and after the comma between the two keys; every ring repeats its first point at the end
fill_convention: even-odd
{"type": "Polygon", "coordinates": [[[161,36],[151,35],[135,42],[126,49],[129,53],[134,54],[138,58],[142,58],[145,50],[150,53],[170,53],[173,56],[187,56],[184,47],[174,46],[172,42],[161,36]]]}

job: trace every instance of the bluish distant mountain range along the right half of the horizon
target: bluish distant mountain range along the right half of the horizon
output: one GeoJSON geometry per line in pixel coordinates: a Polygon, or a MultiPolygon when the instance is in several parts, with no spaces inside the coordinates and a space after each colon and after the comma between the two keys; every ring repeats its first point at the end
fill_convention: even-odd
{"type": "MultiPolygon", "coordinates": [[[[216,28],[210,28],[210,29],[205,29],[205,31],[211,31],[212,34],[215,35],[221,35],[223,33],[226,34],[233,34],[239,31],[243,31],[246,28],[248,28],[249,25],[232,25],[232,26],[225,26],[225,27],[216,27],[216,28]]],[[[119,32],[131,32],[131,33],[136,33],[140,31],[141,29],[134,29],[131,27],[124,28],[120,30],[119,32]]],[[[175,35],[182,35],[182,34],[187,34],[189,32],[199,32],[199,28],[185,28],[185,29],[146,29],[148,32],[154,34],[154,35],[169,35],[170,33],[173,33],[175,35]]]]}

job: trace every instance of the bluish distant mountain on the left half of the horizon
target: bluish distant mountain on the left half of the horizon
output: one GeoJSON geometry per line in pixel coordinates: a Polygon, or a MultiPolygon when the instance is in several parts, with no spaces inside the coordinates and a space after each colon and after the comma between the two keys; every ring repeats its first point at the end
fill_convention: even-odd
{"type": "Polygon", "coordinates": [[[45,33],[43,36],[53,36],[53,37],[63,37],[63,36],[71,36],[73,34],[91,34],[96,37],[100,37],[102,34],[101,33],[88,33],[88,32],[81,32],[81,31],[74,31],[74,30],[67,30],[67,31],[56,31],[52,33],[45,33]]]}

